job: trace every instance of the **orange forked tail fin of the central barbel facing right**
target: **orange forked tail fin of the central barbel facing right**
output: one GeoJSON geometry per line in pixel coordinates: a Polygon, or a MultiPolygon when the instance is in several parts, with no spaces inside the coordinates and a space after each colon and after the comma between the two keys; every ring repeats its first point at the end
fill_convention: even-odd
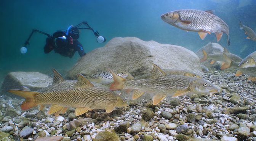
{"type": "Polygon", "coordinates": [[[114,82],[110,85],[109,89],[113,91],[118,89],[123,89],[123,81],[125,81],[126,79],[123,77],[120,77],[119,75],[115,74],[112,71],[110,71],[110,73],[113,75],[114,82]]]}

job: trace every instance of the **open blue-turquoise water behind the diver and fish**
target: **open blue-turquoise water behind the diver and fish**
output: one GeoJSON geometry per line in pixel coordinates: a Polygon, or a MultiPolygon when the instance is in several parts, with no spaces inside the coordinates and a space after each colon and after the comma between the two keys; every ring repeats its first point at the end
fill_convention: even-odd
{"type": "MultiPolygon", "coordinates": [[[[51,68],[67,71],[80,58],[75,53],[73,58],[63,57],[53,51],[43,52],[46,36],[35,33],[30,39],[26,54],[20,48],[29,37],[32,29],[49,34],[57,30],[66,30],[69,25],[82,21],[105,36],[105,43],[97,43],[96,37],[89,30],[81,30],[78,39],[90,52],[103,47],[114,37],[135,36],[142,40],[154,40],[163,44],[174,44],[197,51],[208,42],[216,42],[214,34],[201,40],[197,33],[186,32],[173,27],[160,19],[161,14],[176,9],[215,10],[229,25],[229,51],[244,58],[256,50],[254,41],[245,39],[239,29],[239,20],[256,31],[255,0],[14,0],[4,1],[0,6],[1,42],[0,42],[0,78],[13,71],[51,72],[51,68]]],[[[227,47],[227,36],[221,41],[227,47]]]]}

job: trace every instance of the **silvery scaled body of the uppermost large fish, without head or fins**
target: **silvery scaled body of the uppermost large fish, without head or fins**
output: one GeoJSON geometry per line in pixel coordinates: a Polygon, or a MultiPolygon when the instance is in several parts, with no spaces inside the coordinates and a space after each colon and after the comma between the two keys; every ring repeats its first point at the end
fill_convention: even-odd
{"type": "Polygon", "coordinates": [[[181,24],[180,22],[174,23],[176,26],[182,28],[183,30],[198,32],[203,29],[212,33],[223,31],[229,35],[228,25],[214,14],[195,9],[177,10],[176,12],[178,12],[181,20],[191,21],[190,24],[181,24]]]}

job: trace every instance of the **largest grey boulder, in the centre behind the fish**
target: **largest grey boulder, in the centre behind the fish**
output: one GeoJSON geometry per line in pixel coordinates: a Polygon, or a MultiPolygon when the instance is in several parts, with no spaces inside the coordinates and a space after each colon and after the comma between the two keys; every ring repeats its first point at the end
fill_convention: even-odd
{"type": "Polygon", "coordinates": [[[74,80],[77,73],[86,75],[107,68],[130,72],[136,77],[149,73],[152,63],[163,69],[187,69],[202,74],[199,58],[184,47],[146,42],[136,37],[119,37],[83,56],[66,78],[74,80]]]}

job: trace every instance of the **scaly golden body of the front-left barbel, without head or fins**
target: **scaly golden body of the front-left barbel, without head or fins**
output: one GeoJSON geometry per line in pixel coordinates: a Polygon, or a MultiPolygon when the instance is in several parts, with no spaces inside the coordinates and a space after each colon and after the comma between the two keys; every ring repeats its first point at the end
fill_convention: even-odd
{"type": "Polygon", "coordinates": [[[35,103],[56,104],[63,107],[90,107],[104,109],[117,100],[114,92],[100,87],[73,88],[61,91],[41,92],[35,94],[35,103]]]}

